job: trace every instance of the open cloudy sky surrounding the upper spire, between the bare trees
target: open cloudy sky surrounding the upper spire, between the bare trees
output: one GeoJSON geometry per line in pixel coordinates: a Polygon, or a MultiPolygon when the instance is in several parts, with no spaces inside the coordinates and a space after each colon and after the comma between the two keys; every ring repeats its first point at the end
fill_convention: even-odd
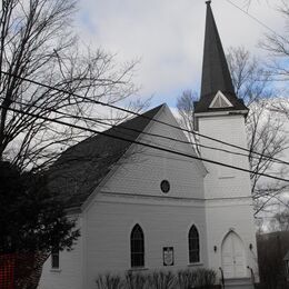
{"type": "MultiPolygon", "coordinates": [[[[243,47],[266,58],[258,46],[270,32],[282,33],[281,0],[212,0],[211,8],[225,51],[243,47]]],[[[120,62],[140,60],[133,81],[151,106],[176,107],[183,90],[199,92],[205,36],[203,0],[79,0],[77,29],[83,43],[116,53],[120,62]]]]}

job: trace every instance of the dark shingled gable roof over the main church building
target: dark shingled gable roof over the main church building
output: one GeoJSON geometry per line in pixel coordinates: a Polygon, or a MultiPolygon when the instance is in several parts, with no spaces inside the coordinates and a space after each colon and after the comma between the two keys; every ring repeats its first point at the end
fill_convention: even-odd
{"type": "Polygon", "coordinates": [[[106,131],[128,141],[97,134],[66,150],[51,166],[50,189],[68,208],[80,207],[163,106],[147,111],[144,118],[138,116],[106,131]]]}

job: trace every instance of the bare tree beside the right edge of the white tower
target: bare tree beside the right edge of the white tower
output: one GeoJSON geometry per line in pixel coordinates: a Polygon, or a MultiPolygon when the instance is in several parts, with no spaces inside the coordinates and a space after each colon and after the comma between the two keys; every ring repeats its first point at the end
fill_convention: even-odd
{"type": "Polygon", "coordinates": [[[271,111],[272,100],[259,100],[250,106],[247,119],[248,147],[252,183],[252,196],[256,200],[256,215],[260,211],[271,211],[273,206],[282,203],[281,193],[288,189],[288,183],[269,180],[258,172],[269,172],[286,178],[288,166],[275,161],[282,159],[288,149],[288,138],[283,119],[271,111]],[[256,156],[253,152],[258,152],[256,156]]]}

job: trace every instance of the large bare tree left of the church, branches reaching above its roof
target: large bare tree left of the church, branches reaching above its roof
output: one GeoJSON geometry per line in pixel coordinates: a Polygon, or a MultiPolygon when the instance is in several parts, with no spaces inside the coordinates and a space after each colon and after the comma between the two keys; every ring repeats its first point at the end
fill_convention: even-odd
{"type": "Polygon", "coordinates": [[[47,167],[61,149],[88,136],[34,116],[91,127],[96,119],[114,122],[128,117],[110,111],[103,114],[96,101],[112,104],[126,100],[136,111],[144,106],[130,100],[136,92],[131,77],[137,61],[119,66],[116,56],[101,49],[81,49],[72,32],[74,12],[74,0],[1,3],[0,159],[21,169],[47,167]]]}

